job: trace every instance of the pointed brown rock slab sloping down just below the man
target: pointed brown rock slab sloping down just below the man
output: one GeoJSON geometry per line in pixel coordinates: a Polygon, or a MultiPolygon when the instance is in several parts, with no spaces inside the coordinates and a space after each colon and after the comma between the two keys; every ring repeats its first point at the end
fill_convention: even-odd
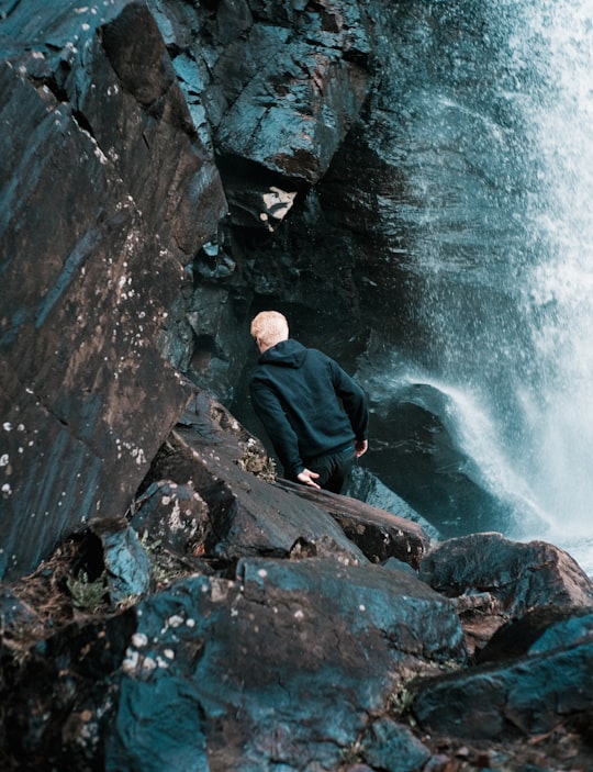
{"type": "Polygon", "coordinates": [[[205,557],[287,557],[299,539],[314,544],[329,537],[342,556],[367,562],[329,515],[246,471],[245,465],[260,466],[262,456],[257,440],[221,404],[197,392],[144,485],[172,480],[200,494],[210,521],[205,557]]]}

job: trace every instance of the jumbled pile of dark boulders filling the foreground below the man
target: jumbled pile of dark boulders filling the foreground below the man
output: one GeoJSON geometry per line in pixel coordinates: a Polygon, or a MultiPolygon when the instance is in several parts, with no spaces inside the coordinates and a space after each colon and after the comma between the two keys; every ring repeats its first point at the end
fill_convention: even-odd
{"type": "MultiPolygon", "coordinates": [[[[296,495],[262,477],[265,460],[197,393],[128,523],[92,521],[78,547],[5,589],[3,769],[446,770],[459,743],[519,759],[525,735],[563,721],[589,759],[577,684],[591,678],[593,589],[571,561],[489,534],[425,556],[417,524],[296,495]],[[471,603],[485,583],[497,605],[471,603]],[[529,646],[475,665],[468,612],[493,631],[527,607],[529,646]]],[[[551,757],[566,750],[550,741],[551,757]]]]}

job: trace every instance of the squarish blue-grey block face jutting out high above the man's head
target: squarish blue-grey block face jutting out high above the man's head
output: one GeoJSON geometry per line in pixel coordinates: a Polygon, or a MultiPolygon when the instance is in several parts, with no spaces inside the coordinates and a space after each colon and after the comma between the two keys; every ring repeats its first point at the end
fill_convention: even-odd
{"type": "Polygon", "coordinates": [[[225,114],[217,127],[221,153],[313,184],[357,115],[368,81],[339,49],[292,42],[225,114]]]}

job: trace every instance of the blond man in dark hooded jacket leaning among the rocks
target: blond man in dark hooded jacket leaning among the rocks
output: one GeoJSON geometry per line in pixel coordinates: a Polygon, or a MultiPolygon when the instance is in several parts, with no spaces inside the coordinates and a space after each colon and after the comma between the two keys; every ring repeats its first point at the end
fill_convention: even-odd
{"type": "Polygon", "coordinates": [[[251,403],[284,477],[339,493],[368,448],[365,392],[325,354],[289,338],[278,311],[257,314],[250,333],[260,354],[251,403]]]}

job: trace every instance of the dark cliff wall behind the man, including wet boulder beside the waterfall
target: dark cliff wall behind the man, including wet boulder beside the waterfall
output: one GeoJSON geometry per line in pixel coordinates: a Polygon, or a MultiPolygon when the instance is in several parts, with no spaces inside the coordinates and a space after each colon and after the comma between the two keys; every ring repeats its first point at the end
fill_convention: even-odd
{"type": "Polygon", "coordinates": [[[508,523],[446,398],[373,383],[414,338],[391,253],[399,15],[378,0],[4,4],[1,575],[125,512],[183,381],[260,430],[243,372],[264,306],[360,369],[369,468],[413,508],[451,536],[508,523]]]}

